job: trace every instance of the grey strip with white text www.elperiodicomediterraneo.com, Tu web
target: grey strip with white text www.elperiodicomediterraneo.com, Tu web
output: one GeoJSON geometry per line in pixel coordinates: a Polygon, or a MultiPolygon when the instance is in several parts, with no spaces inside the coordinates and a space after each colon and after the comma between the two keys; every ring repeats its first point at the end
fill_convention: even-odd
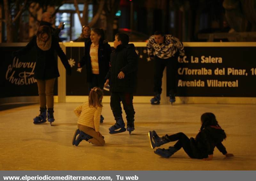
{"type": "Polygon", "coordinates": [[[249,181],[256,171],[0,171],[0,181],[249,181]]]}

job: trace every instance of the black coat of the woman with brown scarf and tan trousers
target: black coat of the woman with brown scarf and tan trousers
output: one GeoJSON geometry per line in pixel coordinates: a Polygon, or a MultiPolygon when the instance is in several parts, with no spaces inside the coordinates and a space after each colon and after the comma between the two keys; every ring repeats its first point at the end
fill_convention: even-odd
{"type": "Polygon", "coordinates": [[[44,51],[40,49],[36,43],[36,36],[33,36],[32,40],[26,45],[26,47],[13,52],[13,56],[20,57],[28,53],[33,47],[36,47],[35,79],[47,80],[60,77],[57,60],[54,56],[55,51],[66,68],[67,74],[71,74],[71,67],[68,64],[68,59],[54,36],[52,36],[52,44],[49,50],[44,51]]]}

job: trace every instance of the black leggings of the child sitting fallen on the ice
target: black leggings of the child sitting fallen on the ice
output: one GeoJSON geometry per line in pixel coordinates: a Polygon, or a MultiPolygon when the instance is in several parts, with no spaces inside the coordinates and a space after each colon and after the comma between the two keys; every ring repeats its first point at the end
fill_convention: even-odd
{"type": "Polygon", "coordinates": [[[183,132],[179,132],[170,136],[166,135],[164,137],[165,138],[167,137],[169,141],[178,140],[177,143],[175,143],[174,147],[177,150],[180,150],[180,148],[183,148],[190,158],[195,158],[195,156],[193,155],[192,148],[190,146],[190,140],[183,132]]]}

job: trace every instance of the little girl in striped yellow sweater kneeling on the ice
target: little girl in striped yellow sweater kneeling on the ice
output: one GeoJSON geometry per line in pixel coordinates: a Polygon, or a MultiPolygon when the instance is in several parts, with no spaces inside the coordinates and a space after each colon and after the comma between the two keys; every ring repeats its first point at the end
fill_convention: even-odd
{"type": "Polygon", "coordinates": [[[102,90],[99,87],[93,87],[89,94],[89,101],[84,102],[74,110],[78,117],[78,129],[73,137],[73,145],[78,146],[82,140],[86,140],[97,146],[103,146],[105,144],[104,137],[100,134],[102,98],[102,90]]]}

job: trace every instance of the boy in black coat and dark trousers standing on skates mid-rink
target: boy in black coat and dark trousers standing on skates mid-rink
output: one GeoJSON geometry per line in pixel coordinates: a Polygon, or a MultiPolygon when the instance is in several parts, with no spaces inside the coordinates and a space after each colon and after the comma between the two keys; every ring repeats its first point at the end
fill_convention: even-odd
{"type": "Polygon", "coordinates": [[[115,36],[114,48],[110,57],[110,68],[106,76],[105,87],[109,84],[111,92],[110,107],[116,120],[116,124],[109,128],[110,134],[125,132],[122,117],[122,101],[127,120],[129,134],[134,130],[133,93],[136,89],[138,56],[134,44],[129,43],[129,36],[118,33],[115,36]],[[117,130],[117,131],[116,131],[117,130]]]}

